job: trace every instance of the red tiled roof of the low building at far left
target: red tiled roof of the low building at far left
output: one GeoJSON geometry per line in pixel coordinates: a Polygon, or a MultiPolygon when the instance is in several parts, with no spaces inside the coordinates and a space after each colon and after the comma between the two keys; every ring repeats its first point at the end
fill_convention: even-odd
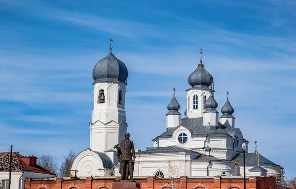
{"type": "MultiPolygon", "coordinates": [[[[54,173],[44,169],[36,164],[36,157],[24,157],[16,152],[12,153],[12,171],[28,171],[34,173],[42,173],[48,175],[55,175],[54,173]],[[35,162],[34,162],[35,159],[35,162]],[[33,161],[32,161],[33,160],[33,161]],[[33,163],[30,163],[33,162],[33,163]]],[[[10,153],[0,153],[0,172],[9,171],[10,153]]]]}

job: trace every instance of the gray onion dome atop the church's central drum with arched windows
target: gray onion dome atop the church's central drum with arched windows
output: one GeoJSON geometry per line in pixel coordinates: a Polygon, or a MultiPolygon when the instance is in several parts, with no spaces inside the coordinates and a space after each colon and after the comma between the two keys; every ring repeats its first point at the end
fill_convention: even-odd
{"type": "Polygon", "coordinates": [[[213,76],[206,70],[202,63],[199,63],[195,71],[188,76],[188,83],[192,87],[197,85],[209,87],[213,83],[213,76]]]}

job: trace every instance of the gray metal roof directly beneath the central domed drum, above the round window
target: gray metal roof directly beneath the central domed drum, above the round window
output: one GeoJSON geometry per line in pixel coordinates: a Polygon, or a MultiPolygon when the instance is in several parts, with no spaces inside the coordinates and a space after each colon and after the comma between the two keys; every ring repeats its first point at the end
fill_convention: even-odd
{"type": "Polygon", "coordinates": [[[226,127],[223,126],[221,123],[219,123],[219,126],[217,126],[216,129],[214,129],[214,130],[206,128],[202,123],[203,123],[203,117],[201,117],[201,118],[185,117],[181,121],[179,126],[165,131],[164,133],[157,136],[156,138],[171,138],[173,136],[173,133],[175,132],[175,130],[178,129],[180,126],[184,126],[185,128],[187,128],[189,130],[189,132],[191,132],[192,136],[200,136],[200,135],[205,136],[206,134],[231,136],[228,132],[226,132],[224,130],[224,128],[226,128],[226,127]]]}

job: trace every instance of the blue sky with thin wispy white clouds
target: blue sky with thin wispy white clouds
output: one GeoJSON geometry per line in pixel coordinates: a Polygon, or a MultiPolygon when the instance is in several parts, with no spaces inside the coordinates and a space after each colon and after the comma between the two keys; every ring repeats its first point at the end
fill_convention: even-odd
{"type": "Polygon", "coordinates": [[[263,156],[296,175],[295,8],[294,0],[0,0],[0,150],[12,144],[61,161],[89,147],[92,69],[112,37],[129,70],[136,148],[165,131],[174,87],[185,111],[202,48],[218,109],[229,91],[250,151],[257,140],[263,156]]]}

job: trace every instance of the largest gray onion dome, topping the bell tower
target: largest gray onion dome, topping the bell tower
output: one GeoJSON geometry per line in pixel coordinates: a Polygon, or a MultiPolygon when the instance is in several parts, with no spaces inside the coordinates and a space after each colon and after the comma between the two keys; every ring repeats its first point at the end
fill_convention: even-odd
{"type": "Polygon", "coordinates": [[[125,83],[128,71],[125,64],[114,57],[110,52],[107,57],[101,59],[93,69],[93,79],[95,82],[100,81],[120,81],[125,83]]]}

